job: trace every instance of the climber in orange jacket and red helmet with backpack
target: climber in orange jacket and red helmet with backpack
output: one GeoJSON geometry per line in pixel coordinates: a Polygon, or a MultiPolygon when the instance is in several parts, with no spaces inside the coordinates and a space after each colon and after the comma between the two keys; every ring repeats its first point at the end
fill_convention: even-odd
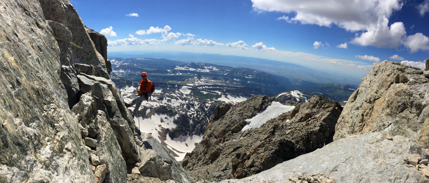
{"type": "Polygon", "coordinates": [[[148,74],[146,72],[142,72],[142,80],[140,80],[140,88],[137,89],[137,96],[129,105],[126,104],[127,107],[131,107],[136,105],[136,108],[133,111],[133,115],[135,116],[139,111],[140,105],[143,100],[148,101],[149,96],[151,95],[151,89],[153,83],[151,80],[148,80],[148,74]]]}

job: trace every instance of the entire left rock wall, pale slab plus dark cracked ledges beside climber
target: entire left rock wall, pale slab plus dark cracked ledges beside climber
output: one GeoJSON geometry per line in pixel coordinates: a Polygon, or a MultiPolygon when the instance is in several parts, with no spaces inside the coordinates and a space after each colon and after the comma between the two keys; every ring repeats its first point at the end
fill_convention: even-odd
{"type": "Polygon", "coordinates": [[[0,13],[0,182],[193,180],[168,151],[147,152],[160,144],[142,139],[110,80],[106,38],[68,0],[6,0],[0,13]],[[145,174],[152,161],[170,176],[145,174]]]}

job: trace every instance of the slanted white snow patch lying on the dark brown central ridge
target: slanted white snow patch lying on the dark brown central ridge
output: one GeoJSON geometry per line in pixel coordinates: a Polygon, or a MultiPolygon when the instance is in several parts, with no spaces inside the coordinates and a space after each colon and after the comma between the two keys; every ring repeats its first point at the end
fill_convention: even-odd
{"type": "Polygon", "coordinates": [[[250,119],[246,119],[246,121],[250,122],[250,124],[243,127],[241,131],[248,130],[251,128],[259,128],[268,120],[276,118],[277,116],[283,114],[284,112],[288,112],[293,108],[295,108],[295,106],[285,106],[280,102],[273,101],[271,102],[271,105],[268,106],[264,111],[259,112],[259,114],[255,115],[250,119]]]}

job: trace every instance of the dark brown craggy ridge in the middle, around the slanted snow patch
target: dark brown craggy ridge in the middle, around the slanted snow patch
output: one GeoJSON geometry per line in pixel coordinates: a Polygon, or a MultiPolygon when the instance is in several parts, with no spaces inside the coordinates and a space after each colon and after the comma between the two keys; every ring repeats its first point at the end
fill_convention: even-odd
{"type": "Polygon", "coordinates": [[[184,168],[198,180],[243,178],[332,142],[342,107],[322,96],[312,97],[308,103],[295,102],[290,111],[260,127],[242,131],[249,123],[246,119],[263,110],[273,110],[267,108],[278,101],[281,100],[254,96],[231,107],[218,120],[212,118],[204,139],[185,156],[184,168]]]}

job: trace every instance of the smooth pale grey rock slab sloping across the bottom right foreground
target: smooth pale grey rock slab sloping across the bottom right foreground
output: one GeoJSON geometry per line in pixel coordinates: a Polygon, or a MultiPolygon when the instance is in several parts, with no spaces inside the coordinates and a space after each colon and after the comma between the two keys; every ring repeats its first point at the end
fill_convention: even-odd
{"type": "Polygon", "coordinates": [[[220,183],[286,183],[303,174],[328,176],[336,183],[428,183],[429,179],[420,173],[424,168],[408,165],[408,157],[427,157],[425,151],[411,139],[393,136],[388,140],[387,135],[379,132],[349,136],[259,174],[220,183]]]}

